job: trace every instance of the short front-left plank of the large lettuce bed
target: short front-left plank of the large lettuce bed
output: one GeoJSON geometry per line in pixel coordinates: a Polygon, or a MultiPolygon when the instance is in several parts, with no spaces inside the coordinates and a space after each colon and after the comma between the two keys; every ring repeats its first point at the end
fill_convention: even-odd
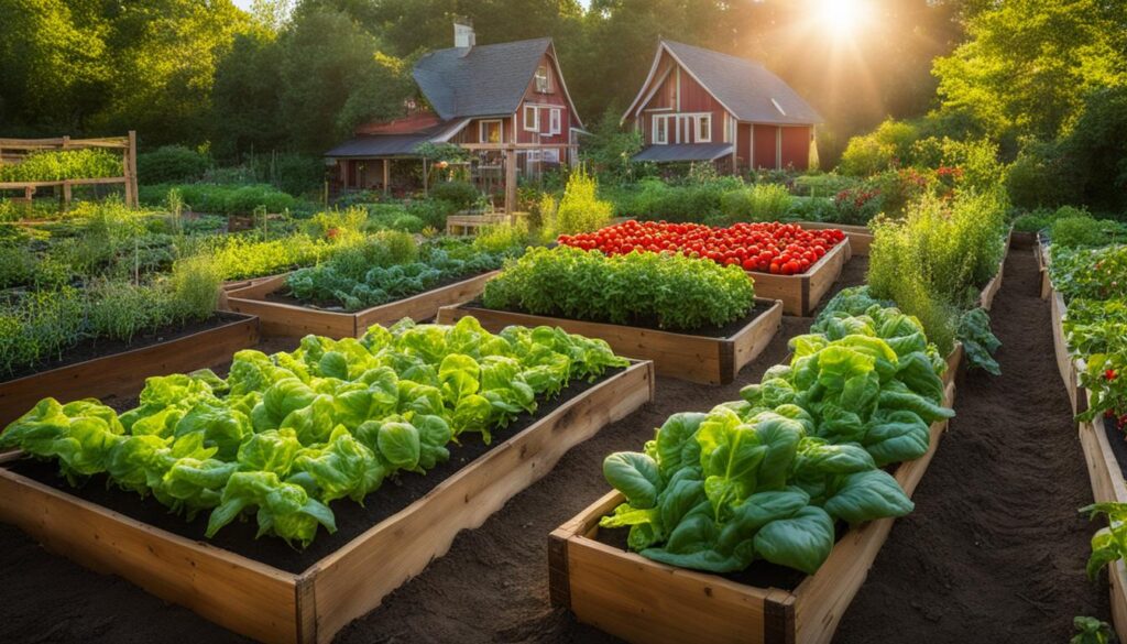
{"type": "Polygon", "coordinates": [[[0,521],[236,633],[292,643],[295,577],[0,469],[0,521]]]}

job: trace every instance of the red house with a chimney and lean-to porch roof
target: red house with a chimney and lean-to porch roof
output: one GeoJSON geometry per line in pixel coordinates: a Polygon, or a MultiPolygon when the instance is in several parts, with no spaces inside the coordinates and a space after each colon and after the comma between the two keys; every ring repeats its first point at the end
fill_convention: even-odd
{"type": "Polygon", "coordinates": [[[583,122],[551,38],[479,46],[472,27],[455,24],[454,44],[415,64],[427,106],[410,106],[403,118],[365,124],[354,139],[325,153],[335,162],[338,188],[387,191],[397,160],[426,165],[418,153],[425,142],[473,152],[471,173],[481,184],[504,182],[506,162],[529,175],[575,161],[583,122]]]}

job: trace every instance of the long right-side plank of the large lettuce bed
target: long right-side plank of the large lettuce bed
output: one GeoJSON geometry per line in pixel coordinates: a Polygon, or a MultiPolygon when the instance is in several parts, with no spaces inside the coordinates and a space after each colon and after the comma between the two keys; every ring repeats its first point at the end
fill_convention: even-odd
{"type": "Polygon", "coordinates": [[[317,642],[446,553],[460,530],[481,526],[579,442],[651,399],[653,364],[635,363],[508,439],[419,501],[319,562],[313,576],[317,642]]]}

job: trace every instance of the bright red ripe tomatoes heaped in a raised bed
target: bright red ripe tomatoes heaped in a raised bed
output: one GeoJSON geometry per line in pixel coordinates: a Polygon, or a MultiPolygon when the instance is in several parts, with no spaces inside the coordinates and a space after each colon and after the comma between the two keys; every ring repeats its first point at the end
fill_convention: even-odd
{"type": "Polygon", "coordinates": [[[595,232],[562,235],[559,242],[605,255],[633,250],[684,253],[745,271],[798,275],[845,239],[841,230],[806,230],[793,223],[737,223],[713,228],[700,223],[627,221],[595,232]]]}

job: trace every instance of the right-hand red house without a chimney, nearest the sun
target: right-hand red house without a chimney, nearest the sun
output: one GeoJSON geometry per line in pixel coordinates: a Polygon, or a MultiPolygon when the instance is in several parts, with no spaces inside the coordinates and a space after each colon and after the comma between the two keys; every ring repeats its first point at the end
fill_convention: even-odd
{"type": "Polygon", "coordinates": [[[822,117],[760,63],[662,41],[622,123],[642,134],[636,161],[805,170],[822,117]]]}

